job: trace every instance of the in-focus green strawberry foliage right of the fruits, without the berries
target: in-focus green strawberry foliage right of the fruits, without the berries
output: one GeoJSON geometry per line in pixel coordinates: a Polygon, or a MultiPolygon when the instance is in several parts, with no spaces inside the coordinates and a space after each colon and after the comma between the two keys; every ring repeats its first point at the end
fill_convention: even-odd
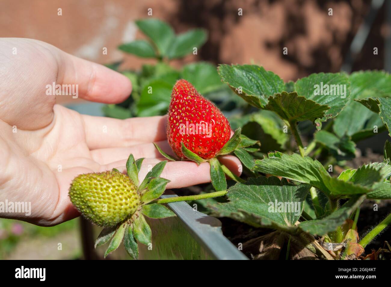
{"type": "MultiPolygon", "coordinates": [[[[375,135],[378,127],[388,129],[390,75],[377,71],[320,73],[284,84],[278,75],[255,65],[221,65],[219,74],[251,106],[278,115],[290,129],[299,153],[286,149],[285,153],[272,151],[264,159],[256,159],[251,167],[255,176],[230,187],[229,201],[210,206],[212,214],[273,228],[277,230],[273,236],[283,234],[283,242],[289,242],[292,252],[310,243],[317,247],[315,236],[321,237],[323,244],[318,248],[319,256],[358,258],[391,223],[390,214],[359,240],[357,219],[362,201],[391,199],[390,144],[386,142],[384,147],[384,161],[343,170],[338,177],[330,175],[332,164],[325,168],[316,157],[326,149],[326,158],[332,157],[328,163],[343,166],[346,158],[355,156],[355,142],[375,135]],[[321,86],[325,88],[318,91],[321,86]],[[298,130],[302,121],[316,127],[314,140],[307,147],[298,130]],[[316,146],[320,152],[313,152],[316,146]]],[[[240,154],[237,156],[243,161],[240,154]]],[[[258,239],[258,247],[268,240],[270,235],[258,239]]],[[[292,258],[305,254],[296,253],[292,258]]]]}

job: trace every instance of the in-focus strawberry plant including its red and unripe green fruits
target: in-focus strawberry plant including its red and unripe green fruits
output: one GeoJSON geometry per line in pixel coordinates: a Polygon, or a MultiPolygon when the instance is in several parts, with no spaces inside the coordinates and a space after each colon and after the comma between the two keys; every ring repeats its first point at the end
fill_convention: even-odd
{"type": "MultiPolygon", "coordinates": [[[[391,144],[387,141],[384,145],[383,161],[345,169],[337,177],[330,173],[333,164],[345,166],[346,159],[355,156],[355,142],[372,136],[374,132],[369,133],[369,125],[376,123],[380,129],[388,129],[390,76],[376,71],[352,75],[321,73],[284,84],[277,75],[255,65],[221,65],[219,73],[235,93],[260,109],[260,112],[249,109],[250,117],[242,120],[244,127],[258,121],[262,127],[270,124],[276,128],[278,120],[274,114],[285,124],[284,133],[290,129],[297,149],[281,140],[278,131],[265,128],[274,138],[275,146],[281,146],[284,152],[269,151],[263,159],[259,158],[262,154],[259,141],[241,134],[241,127],[231,136],[230,123],[221,111],[188,81],[179,80],[172,89],[167,120],[167,139],[173,154],[155,146],[168,160],[191,160],[197,164],[208,161],[216,191],[158,199],[168,182],[159,177],[167,161],[156,165],[139,184],[138,170],[143,159],[135,161],[132,155],[127,161],[127,175],[113,170],[78,176],[70,188],[72,203],[86,218],[105,226],[96,246],[113,237],[107,256],[124,239],[129,255],[137,258],[136,241],[151,242],[151,228],[144,216],[174,215],[162,203],[226,196],[225,202],[209,204],[208,212],[255,228],[275,230],[245,243],[244,250],[259,251],[255,258],[273,258],[271,254],[275,256],[275,250],[281,250],[282,246],[287,246],[286,258],[359,258],[371,240],[391,223],[388,215],[359,238],[357,222],[364,199],[391,199],[391,144]],[[318,94],[317,85],[325,83],[339,86],[340,94],[318,94]],[[360,117],[344,113],[352,107],[364,113],[360,117]],[[364,116],[365,121],[361,119],[364,116]],[[343,123],[341,120],[352,125],[336,126],[343,123]],[[315,130],[307,146],[298,129],[298,123],[303,121],[312,122],[315,130]],[[190,124],[194,127],[190,128],[190,124]],[[210,137],[195,132],[197,125],[203,127],[201,124],[210,125],[210,137]],[[219,163],[219,156],[229,153],[235,154],[246,167],[247,179],[235,176],[219,163]],[[228,185],[226,176],[236,184],[228,185]]],[[[378,131],[376,125],[375,130],[378,131]]]]}

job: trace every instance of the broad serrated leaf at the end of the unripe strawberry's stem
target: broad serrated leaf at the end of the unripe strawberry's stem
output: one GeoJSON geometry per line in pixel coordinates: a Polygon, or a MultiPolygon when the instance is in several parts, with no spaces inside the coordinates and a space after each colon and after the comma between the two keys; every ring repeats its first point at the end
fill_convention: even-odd
{"type": "Polygon", "coordinates": [[[213,205],[212,215],[230,217],[255,227],[294,231],[309,188],[274,176],[249,178],[246,183],[230,187],[227,194],[230,202],[213,205]]]}

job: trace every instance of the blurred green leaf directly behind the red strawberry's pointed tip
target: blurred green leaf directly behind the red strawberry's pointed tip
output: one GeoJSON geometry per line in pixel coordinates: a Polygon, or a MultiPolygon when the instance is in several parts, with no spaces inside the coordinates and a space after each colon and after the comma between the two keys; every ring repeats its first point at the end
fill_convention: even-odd
{"type": "Polygon", "coordinates": [[[201,94],[221,89],[224,85],[215,65],[207,62],[191,63],[183,67],[182,78],[193,84],[201,94]]]}

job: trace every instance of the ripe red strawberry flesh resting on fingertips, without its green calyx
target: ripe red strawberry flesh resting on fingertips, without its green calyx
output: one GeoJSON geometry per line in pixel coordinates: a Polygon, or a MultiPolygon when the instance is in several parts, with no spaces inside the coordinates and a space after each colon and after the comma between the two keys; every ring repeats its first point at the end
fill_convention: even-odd
{"type": "Polygon", "coordinates": [[[174,85],[168,111],[167,138],[175,154],[183,159],[181,143],[208,160],[230,139],[231,127],[221,111],[200,95],[186,80],[174,85]]]}

